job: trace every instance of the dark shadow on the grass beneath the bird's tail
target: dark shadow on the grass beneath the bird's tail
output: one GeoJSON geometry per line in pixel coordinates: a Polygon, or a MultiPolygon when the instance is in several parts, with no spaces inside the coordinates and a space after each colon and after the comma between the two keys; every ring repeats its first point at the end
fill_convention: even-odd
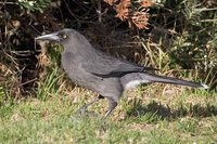
{"type": "Polygon", "coordinates": [[[155,101],[152,101],[148,105],[137,103],[127,110],[127,117],[141,117],[146,114],[152,116],[157,116],[158,120],[175,120],[182,117],[210,117],[217,116],[217,106],[206,104],[190,104],[190,105],[180,105],[176,109],[171,109],[168,105],[162,105],[155,101]]]}

